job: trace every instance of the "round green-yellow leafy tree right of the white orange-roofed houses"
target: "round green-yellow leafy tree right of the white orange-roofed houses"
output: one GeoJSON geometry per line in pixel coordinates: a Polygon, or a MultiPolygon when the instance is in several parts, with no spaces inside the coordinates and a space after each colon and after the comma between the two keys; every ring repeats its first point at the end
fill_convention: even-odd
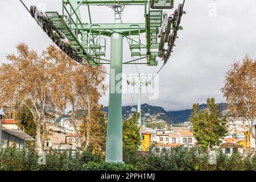
{"type": "Polygon", "coordinates": [[[228,132],[226,118],[220,113],[220,105],[215,105],[214,102],[214,98],[208,98],[207,108],[201,110],[198,103],[193,104],[192,115],[189,118],[194,137],[208,151],[220,144],[220,139],[228,132]]]}

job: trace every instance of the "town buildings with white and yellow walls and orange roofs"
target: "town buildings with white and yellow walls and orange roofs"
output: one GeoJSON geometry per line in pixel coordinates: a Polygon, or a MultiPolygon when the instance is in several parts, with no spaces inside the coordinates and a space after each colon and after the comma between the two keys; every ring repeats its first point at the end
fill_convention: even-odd
{"type": "MultiPolygon", "coordinates": [[[[144,104],[144,106],[154,108],[144,104]]],[[[131,107],[131,106],[130,106],[131,107]]],[[[131,107],[134,108],[134,107],[131,107]]],[[[8,113],[11,109],[5,109],[8,113]]],[[[222,110],[225,114],[226,110],[222,110]]],[[[79,120],[86,114],[86,111],[76,111],[75,119],[79,120]]],[[[107,119],[107,112],[105,112],[105,119],[107,119]]],[[[49,135],[44,142],[46,151],[53,150],[76,150],[80,147],[79,144],[83,142],[84,138],[76,135],[75,128],[71,119],[71,112],[64,115],[48,114],[46,115],[47,130],[49,135]],[[79,142],[80,140],[80,142],[79,142]]],[[[171,148],[175,146],[195,146],[197,141],[191,132],[191,122],[185,121],[180,124],[168,123],[164,120],[166,113],[151,114],[142,110],[142,151],[148,151],[150,146],[156,148],[171,148]]],[[[129,120],[133,117],[132,111],[125,111],[123,118],[129,120]]],[[[79,123],[79,122],[78,122],[79,123]]],[[[232,154],[233,148],[238,148],[242,155],[249,154],[255,151],[255,139],[249,132],[249,126],[243,119],[228,118],[228,133],[224,139],[221,139],[220,147],[223,148],[226,154],[232,154]]],[[[15,119],[3,119],[2,121],[2,145],[3,147],[11,146],[15,143],[21,149],[25,140],[35,140],[30,135],[20,130],[16,125],[15,119]]]]}

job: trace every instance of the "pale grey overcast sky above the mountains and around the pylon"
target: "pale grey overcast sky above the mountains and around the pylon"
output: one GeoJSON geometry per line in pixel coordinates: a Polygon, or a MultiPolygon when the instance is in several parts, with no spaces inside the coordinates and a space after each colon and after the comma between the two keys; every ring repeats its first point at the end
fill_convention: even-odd
{"type": "MultiPolygon", "coordinates": [[[[23,1],[28,7],[36,5],[46,11],[61,12],[61,0],[23,1]]],[[[175,0],[175,8],[181,2],[175,0]]],[[[169,111],[190,109],[193,103],[205,103],[208,97],[224,102],[220,89],[230,65],[246,54],[256,57],[255,7],[254,0],[187,0],[184,6],[187,14],[181,20],[184,30],[178,32],[172,57],[159,73],[159,97],[150,100],[149,104],[169,111]],[[216,16],[212,11],[214,2],[216,16]]],[[[172,12],[167,11],[168,14],[172,12]]],[[[83,9],[84,22],[86,13],[83,9]]],[[[91,13],[93,23],[113,22],[114,11],[108,7],[93,6],[91,13]]],[[[143,13],[143,7],[126,6],[123,21],[144,23],[143,13]]],[[[38,52],[52,43],[18,0],[0,1],[0,20],[1,63],[6,62],[5,55],[15,52],[15,45],[20,42],[38,52]]],[[[126,40],[123,43],[123,60],[131,60],[126,40]]],[[[109,45],[106,58],[109,58],[109,45]]],[[[158,67],[138,65],[138,69],[140,73],[155,73],[162,64],[159,60],[158,67]]],[[[137,68],[123,65],[123,73],[137,73],[137,68]]],[[[137,102],[137,94],[133,94],[133,100],[137,102]]],[[[123,94],[122,101],[123,105],[131,105],[130,94],[123,94]]],[[[108,105],[108,94],[100,102],[108,105]]],[[[148,94],[143,94],[142,102],[148,103],[148,94]]]]}

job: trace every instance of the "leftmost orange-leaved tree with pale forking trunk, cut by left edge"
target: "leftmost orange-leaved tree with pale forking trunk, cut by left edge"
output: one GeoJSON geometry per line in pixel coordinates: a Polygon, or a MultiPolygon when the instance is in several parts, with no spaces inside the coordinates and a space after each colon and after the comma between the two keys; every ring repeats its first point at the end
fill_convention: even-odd
{"type": "Polygon", "coordinates": [[[28,107],[36,125],[36,146],[42,153],[42,139],[46,135],[44,112],[52,110],[53,79],[48,70],[54,63],[47,52],[38,55],[24,43],[16,46],[16,49],[18,55],[7,55],[10,63],[0,67],[1,105],[14,106],[20,103],[28,107]]]}

